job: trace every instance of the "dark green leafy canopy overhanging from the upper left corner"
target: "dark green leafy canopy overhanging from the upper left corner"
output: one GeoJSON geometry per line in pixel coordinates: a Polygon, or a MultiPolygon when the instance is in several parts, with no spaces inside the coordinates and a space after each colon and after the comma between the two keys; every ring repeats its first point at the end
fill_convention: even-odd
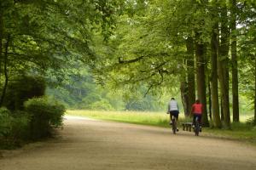
{"type": "Polygon", "coordinates": [[[95,59],[91,36],[97,31],[108,39],[121,3],[1,1],[0,76],[4,73],[5,82],[0,103],[14,75],[29,72],[61,82],[78,62],[90,65],[95,59]]]}

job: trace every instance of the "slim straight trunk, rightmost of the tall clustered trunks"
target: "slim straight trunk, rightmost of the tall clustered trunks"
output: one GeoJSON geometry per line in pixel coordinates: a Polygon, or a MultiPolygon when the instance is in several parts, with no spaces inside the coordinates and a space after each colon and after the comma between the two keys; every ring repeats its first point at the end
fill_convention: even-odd
{"type": "Polygon", "coordinates": [[[233,122],[239,122],[239,99],[238,99],[238,71],[236,55],[236,0],[232,0],[231,6],[231,58],[232,58],[232,94],[233,94],[233,122]]]}

